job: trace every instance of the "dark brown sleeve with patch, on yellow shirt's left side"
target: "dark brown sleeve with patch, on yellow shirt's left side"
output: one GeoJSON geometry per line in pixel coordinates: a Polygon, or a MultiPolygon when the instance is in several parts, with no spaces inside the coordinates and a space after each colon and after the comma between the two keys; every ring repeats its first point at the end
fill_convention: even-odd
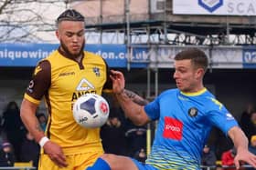
{"type": "Polygon", "coordinates": [[[48,60],[41,61],[34,70],[32,80],[27,86],[26,94],[36,100],[41,100],[43,95],[47,95],[51,83],[51,68],[48,60]]]}

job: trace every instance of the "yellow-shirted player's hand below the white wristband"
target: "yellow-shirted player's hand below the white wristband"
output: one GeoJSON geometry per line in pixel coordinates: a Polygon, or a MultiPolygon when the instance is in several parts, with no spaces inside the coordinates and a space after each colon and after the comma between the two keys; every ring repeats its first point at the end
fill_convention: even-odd
{"type": "Polygon", "coordinates": [[[67,167],[66,157],[63,154],[61,147],[51,141],[44,145],[44,151],[49,156],[52,162],[59,167],[67,167]]]}

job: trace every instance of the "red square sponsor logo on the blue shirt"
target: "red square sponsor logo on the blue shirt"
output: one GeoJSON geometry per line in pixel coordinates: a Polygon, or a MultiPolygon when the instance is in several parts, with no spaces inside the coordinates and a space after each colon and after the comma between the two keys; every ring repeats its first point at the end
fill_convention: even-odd
{"type": "Polygon", "coordinates": [[[177,119],[171,117],[165,117],[165,129],[164,129],[164,137],[181,140],[182,138],[182,129],[183,124],[177,119]]]}

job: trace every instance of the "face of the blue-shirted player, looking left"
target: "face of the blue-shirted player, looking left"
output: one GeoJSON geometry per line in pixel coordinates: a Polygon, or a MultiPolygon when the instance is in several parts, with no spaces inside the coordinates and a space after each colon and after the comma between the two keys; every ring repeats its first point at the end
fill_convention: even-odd
{"type": "Polygon", "coordinates": [[[197,92],[198,69],[191,64],[191,60],[176,60],[175,69],[174,79],[177,88],[183,92],[197,92]]]}

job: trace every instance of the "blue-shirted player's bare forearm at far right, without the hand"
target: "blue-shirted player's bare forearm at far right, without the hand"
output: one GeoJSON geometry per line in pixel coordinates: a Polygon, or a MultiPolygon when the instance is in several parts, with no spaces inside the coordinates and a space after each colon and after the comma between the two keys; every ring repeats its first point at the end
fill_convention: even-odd
{"type": "Polygon", "coordinates": [[[246,135],[241,131],[240,127],[235,126],[229,130],[229,136],[232,139],[238,152],[240,150],[248,149],[248,139],[246,135]]]}

